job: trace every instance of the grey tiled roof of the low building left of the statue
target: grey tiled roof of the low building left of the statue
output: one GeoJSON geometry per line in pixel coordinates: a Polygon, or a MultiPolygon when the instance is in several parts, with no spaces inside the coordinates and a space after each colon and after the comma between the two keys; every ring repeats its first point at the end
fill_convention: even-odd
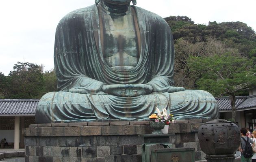
{"type": "Polygon", "coordinates": [[[0,115],[34,115],[39,99],[0,99],[0,115]]]}

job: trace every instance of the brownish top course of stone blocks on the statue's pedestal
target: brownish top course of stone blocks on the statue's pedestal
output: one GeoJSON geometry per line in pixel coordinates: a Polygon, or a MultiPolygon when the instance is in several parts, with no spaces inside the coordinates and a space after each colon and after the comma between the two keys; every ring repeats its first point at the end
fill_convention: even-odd
{"type": "MultiPolygon", "coordinates": [[[[209,120],[176,120],[169,125],[168,133],[197,132],[209,120]]],[[[24,136],[113,136],[151,134],[150,121],[139,122],[81,122],[31,124],[23,129],[24,136]]]]}

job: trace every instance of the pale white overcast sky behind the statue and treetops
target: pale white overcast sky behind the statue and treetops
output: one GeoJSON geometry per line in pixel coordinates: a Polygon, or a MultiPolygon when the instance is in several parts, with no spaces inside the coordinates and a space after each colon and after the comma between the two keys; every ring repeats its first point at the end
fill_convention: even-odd
{"type": "MultiPolygon", "coordinates": [[[[0,72],[17,62],[54,67],[55,29],[70,11],[94,0],[0,0],[0,72]]],[[[241,21],[256,30],[256,0],[137,0],[137,6],[162,17],[187,16],[195,23],[241,21]]]]}

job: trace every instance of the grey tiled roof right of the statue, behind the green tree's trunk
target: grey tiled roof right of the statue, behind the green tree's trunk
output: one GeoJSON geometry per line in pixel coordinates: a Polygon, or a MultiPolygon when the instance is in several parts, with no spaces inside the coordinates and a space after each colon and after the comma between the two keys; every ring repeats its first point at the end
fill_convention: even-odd
{"type": "MultiPolygon", "coordinates": [[[[220,111],[231,111],[229,97],[216,98],[220,111]]],[[[236,110],[243,110],[256,107],[256,95],[236,96],[236,110]]]]}

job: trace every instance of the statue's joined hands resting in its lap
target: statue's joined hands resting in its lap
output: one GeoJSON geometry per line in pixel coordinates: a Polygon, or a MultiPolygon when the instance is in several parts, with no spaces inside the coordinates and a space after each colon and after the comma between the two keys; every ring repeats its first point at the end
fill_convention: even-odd
{"type": "Polygon", "coordinates": [[[145,84],[113,84],[103,85],[102,91],[114,96],[134,97],[150,94],[153,91],[153,87],[145,84]]]}

